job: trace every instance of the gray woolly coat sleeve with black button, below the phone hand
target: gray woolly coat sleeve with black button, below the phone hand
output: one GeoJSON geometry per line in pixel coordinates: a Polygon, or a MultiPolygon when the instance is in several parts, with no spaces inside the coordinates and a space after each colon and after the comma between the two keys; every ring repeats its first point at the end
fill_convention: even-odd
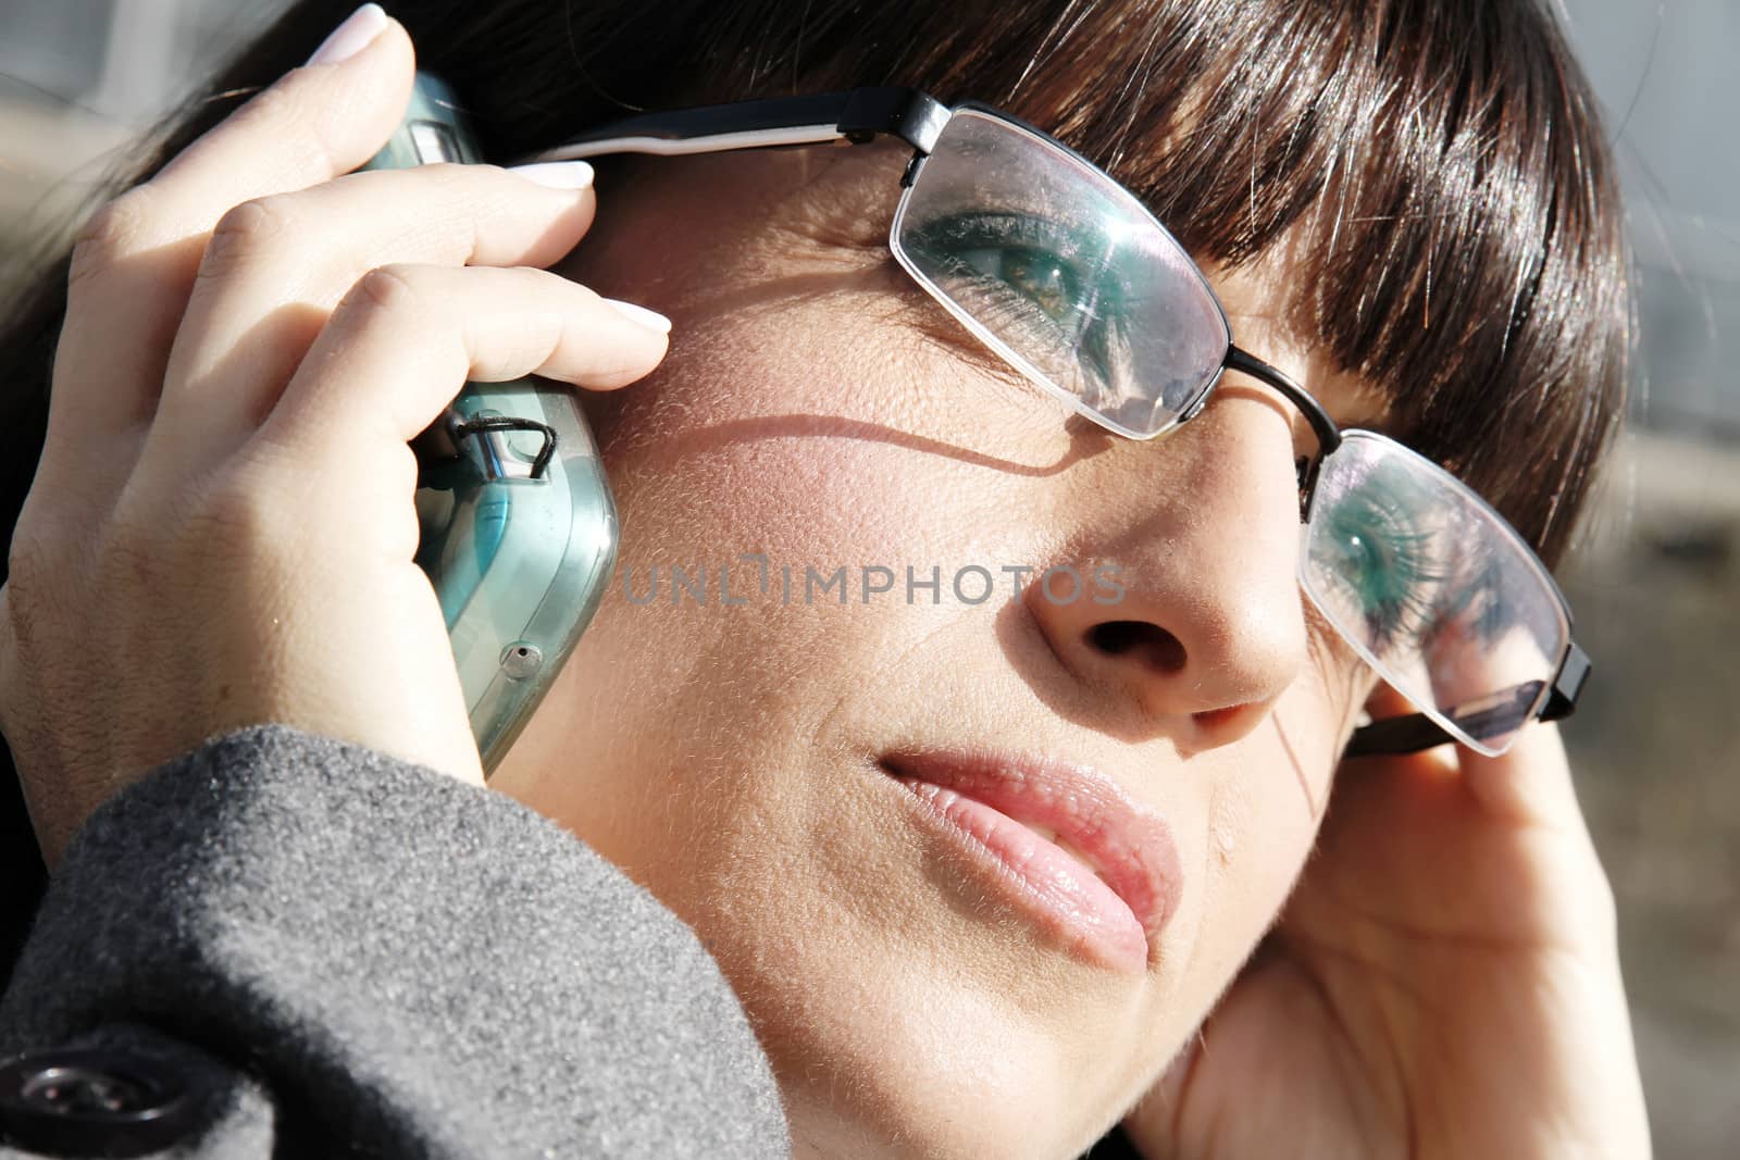
{"type": "Polygon", "coordinates": [[[499,793],[282,725],[80,830],[0,1061],[5,1158],[788,1155],[684,922],[499,793]]]}

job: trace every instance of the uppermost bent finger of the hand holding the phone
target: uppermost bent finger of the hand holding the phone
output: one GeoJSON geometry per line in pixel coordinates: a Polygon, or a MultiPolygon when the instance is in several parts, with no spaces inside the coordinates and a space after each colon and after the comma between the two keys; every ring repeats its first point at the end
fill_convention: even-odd
{"type": "Polygon", "coordinates": [[[378,5],[358,9],[345,33],[355,43],[371,28],[353,56],[284,75],[80,231],[45,470],[64,447],[104,449],[113,464],[113,438],[151,419],[205,242],[226,210],[350,172],[392,136],[416,61],[378,5]]]}

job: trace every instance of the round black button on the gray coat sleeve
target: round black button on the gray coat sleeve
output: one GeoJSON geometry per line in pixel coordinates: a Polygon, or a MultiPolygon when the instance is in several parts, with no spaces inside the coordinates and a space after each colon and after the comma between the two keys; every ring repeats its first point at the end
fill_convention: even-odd
{"type": "Polygon", "coordinates": [[[188,1136],[200,1101],[169,1063],[64,1049],[0,1064],[0,1139],[54,1157],[144,1157],[188,1136]]]}

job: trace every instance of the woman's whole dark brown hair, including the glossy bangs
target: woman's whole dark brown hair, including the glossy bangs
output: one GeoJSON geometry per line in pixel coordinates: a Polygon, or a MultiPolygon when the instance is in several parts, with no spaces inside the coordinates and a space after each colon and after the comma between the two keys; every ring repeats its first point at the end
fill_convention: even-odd
{"type": "MultiPolygon", "coordinates": [[[[299,64],[351,3],[289,9],[165,120],[122,184],[299,64]]],[[[997,104],[1105,165],[1199,261],[1288,245],[1296,332],[1376,384],[1387,430],[1549,562],[1615,430],[1620,212],[1594,103],[1543,0],[388,7],[499,158],[625,111],[753,96],[901,83],[997,104]]],[[[42,445],[64,285],[63,252],[0,332],[5,529],[42,445]]]]}

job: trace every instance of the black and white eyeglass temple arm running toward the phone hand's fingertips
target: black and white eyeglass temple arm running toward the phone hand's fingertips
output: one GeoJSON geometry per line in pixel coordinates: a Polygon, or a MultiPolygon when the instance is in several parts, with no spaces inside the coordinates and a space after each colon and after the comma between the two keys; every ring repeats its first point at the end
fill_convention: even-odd
{"type": "Polygon", "coordinates": [[[865,143],[879,134],[900,137],[929,153],[947,120],[948,106],[917,89],[851,89],[646,113],[600,125],[525,160],[569,162],[606,153],[724,153],[839,139],[865,143]]]}

